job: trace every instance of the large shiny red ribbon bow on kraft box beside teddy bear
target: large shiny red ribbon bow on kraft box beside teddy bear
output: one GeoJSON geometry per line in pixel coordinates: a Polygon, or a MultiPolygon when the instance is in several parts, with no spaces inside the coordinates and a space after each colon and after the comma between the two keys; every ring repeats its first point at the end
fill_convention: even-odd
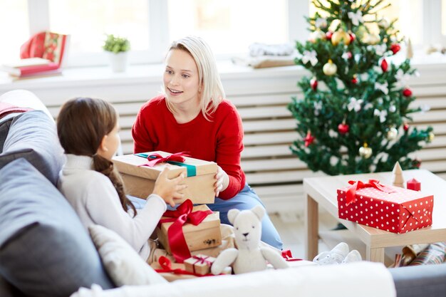
{"type": "Polygon", "coordinates": [[[163,217],[169,217],[170,219],[160,219],[160,224],[173,222],[167,230],[167,240],[169,241],[170,251],[172,251],[172,255],[177,263],[183,263],[185,259],[191,257],[189,248],[187,248],[185,234],[182,232],[182,226],[186,223],[197,226],[209,214],[212,214],[211,210],[192,212],[193,207],[192,201],[187,199],[176,210],[167,210],[162,214],[163,217]]]}

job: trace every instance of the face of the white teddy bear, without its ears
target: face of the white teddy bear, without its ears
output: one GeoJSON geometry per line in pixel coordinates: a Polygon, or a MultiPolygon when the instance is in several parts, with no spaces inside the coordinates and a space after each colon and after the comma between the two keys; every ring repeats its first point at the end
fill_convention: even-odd
{"type": "Polygon", "coordinates": [[[261,238],[261,221],[251,211],[242,211],[234,219],[234,234],[239,249],[254,249],[261,238]]]}

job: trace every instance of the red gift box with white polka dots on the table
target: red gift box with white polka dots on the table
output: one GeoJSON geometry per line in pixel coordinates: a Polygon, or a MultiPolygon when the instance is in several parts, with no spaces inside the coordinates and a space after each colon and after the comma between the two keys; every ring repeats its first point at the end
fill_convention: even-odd
{"type": "Polygon", "coordinates": [[[412,189],[349,182],[338,189],[338,217],[393,233],[405,233],[432,225],[434,197],[412,189]]]}

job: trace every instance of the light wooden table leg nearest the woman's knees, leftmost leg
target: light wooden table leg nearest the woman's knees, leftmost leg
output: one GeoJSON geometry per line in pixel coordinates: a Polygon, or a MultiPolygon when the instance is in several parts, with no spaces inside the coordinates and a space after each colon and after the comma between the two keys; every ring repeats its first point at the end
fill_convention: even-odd
{"type": "Polygon", "coordinates": [[[314,201],[310,195],[306,197],[306,218],[305,218],[305,258],[312,261],[318,254],[319,239],[319,218],[318,218],[318,202],[314,201]]]}

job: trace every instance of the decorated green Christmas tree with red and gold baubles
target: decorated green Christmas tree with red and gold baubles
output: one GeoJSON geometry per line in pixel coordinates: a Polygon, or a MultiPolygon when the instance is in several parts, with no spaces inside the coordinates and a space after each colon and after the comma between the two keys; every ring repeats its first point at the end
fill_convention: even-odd
{"type": "Polygon", "coordinates": [[[292,98],[288,108],[300,137],[292,152],[313,171],[353,174],[420,167],[410,152],[432,141],[432,127],[410,125],[411,113],[422,108],[408,78],[415,75],[410,60],[393,63],[403,37],[395,21],[378,11],[383,1],[313,0],[321,14],[307,17],[308,41],[296,42],[296,64],[311,72],[298,85],[304,98],[292,98]]]}

